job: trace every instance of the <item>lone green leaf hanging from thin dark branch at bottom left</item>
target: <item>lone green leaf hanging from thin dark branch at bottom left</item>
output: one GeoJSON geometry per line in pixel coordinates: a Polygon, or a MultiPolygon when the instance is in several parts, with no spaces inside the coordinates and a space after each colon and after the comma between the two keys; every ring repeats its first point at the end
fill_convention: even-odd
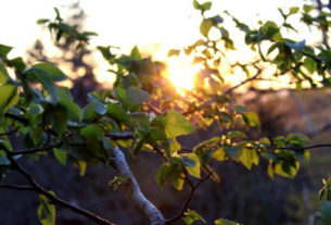
{"type": "Polygon", "coordinates": [[[55,207],[44,196],[39,195],[40,204],[38,207],[38,217],[42,225],[55,224],[55,207]]]}

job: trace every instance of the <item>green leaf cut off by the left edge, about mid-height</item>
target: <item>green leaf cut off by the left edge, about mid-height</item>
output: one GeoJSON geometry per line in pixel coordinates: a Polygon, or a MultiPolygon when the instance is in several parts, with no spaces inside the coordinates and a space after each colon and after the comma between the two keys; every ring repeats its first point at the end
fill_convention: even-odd
{"type": "Polygon", "coordinates": [[[13,85],[0,86],[0,115],[18,102],[17,87],[13,85]]]}

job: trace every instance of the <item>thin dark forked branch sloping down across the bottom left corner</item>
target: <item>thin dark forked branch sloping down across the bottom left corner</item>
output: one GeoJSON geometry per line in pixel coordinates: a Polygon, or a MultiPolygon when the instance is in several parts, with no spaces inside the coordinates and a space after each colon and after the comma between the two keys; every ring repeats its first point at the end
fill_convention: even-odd
{"type": "MultiPolygon", "coordinates": [[[[13,159],[13,155],[11,154],[11,152],[3,148],[9,161],[11,162],[11,165],[13,167],[13,170],[17,171],[18,173],[21,173],[27,180],[28,183],[31,185],[33,189],[30,189],[30,187],[28,188],[28,190],[31,190],[31,191],[35,191],[35,192],[38,192],[44,197],[47,197],[49,200],[51,200],[51,202],[53,202],[54,204],[58,204],[60,207],[64,207],[73,212],[76,212],[82,216],[86,216],[88,218],[90,218],[91,221],[94,221],[97,224],[101,224],[101,225],[114,225],[114,223],[103,218],[103,217],[100,217],[99,215],[96,215],[93,214],[92,212],[90,211],[87,211],[87,210],[84,210],[79,207],[76,207],[74,204],[71,204],[68,202],[66,202],[65,200],[63,199],[60,199],[59,197],[56,196],[53,196],[51,192],[49,192],[48,190],[46,190],[41,185],[39,185],[33,177],[31,175],[25,171],[14,159],[13,159]]],[[[7,185],[4,186],[4,188],[9,188],[10,186],[7,185]]],[[[14,186],[12,186],[14,187],[14,186]]],[[[17,187],[16,187],[17,188],[17,187]]],[[[26,188],[26,187],[24,187],[26,188]]],[[[18,188],[20,189],[20,188],[18,188]]],[[[21,188],[22,189],[22,188],[21,188]]]]}

